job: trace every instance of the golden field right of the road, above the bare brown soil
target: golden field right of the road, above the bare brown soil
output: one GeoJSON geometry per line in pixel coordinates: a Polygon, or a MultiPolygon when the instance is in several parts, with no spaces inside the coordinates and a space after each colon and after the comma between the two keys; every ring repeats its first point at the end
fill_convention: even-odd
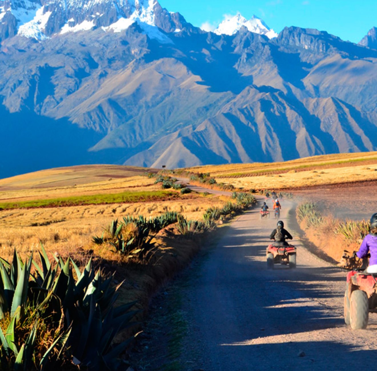
{"type": "Polygon", "coordinates": [[[218,182],[245,189],[288,189],[377,179],[377,152],[332,154],[287,162],[198,166],[218,182]]]}

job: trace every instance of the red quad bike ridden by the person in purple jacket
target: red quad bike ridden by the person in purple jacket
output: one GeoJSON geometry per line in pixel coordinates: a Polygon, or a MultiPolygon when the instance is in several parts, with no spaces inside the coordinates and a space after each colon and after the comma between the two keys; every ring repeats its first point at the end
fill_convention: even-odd
{"type": "Polygon", "coordinates": [[[353,330],[366,328],[369,312],[377,312],[377,273],[352,270],[344,293],[344,321],[353,330]]]}

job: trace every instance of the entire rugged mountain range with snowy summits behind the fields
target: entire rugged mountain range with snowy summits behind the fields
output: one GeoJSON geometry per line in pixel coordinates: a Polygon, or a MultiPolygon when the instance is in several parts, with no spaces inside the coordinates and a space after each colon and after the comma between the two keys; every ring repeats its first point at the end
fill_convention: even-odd
{"type": "Polygon", "coordinates": [[[156,0],[0,1],[0,177],[377,150],[375,29],[358,45],[238,20],[212,33],[156,0]]]}

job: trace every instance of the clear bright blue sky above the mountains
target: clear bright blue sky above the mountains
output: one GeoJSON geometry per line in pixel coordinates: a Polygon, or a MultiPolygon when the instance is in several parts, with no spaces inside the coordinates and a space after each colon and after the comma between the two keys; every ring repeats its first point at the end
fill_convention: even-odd
{"type": "Polygon", "coordinates": [[[316,28],[359,42],[377,26],[377,0],[159,0],[170,12],[181,13],[195,26],[218,24],[224,15],[240,12],[262,18],[276,32],[285,26],[316,28]]]}

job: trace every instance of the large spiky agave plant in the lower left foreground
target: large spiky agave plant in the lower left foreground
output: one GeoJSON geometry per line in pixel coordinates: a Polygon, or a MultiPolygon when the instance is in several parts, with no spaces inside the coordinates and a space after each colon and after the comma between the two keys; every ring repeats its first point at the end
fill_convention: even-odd
{"type": "Polygon", "coordinates": [[[113,339],[134,325],[130,321],[136,312],[129,310],[135,303],[115,307],[120,285],[114,287],[112,277],[95,272],[91,261],[81,271],[72,259],[64,262],[54,256],[51,262],[43,246],[39,255],[41,264],[32,257],[23,263],[16,252],[12,263],[0,261],[0,325],[9,317],[7,327],[0,331],[1,365],[29,370],[34,362],[35,369],[44,370],[64,356],[93,371],[116,370],[120,366],[117,357],[130,339],[118,345],[113,345],[113,339]],[[17,348],[20,339],[15,329],[31,322],[33,316],[32,328],[17,348]],[[36,354],[33,345],[41,321],[54,337],[44,354],[36,354]]]}

